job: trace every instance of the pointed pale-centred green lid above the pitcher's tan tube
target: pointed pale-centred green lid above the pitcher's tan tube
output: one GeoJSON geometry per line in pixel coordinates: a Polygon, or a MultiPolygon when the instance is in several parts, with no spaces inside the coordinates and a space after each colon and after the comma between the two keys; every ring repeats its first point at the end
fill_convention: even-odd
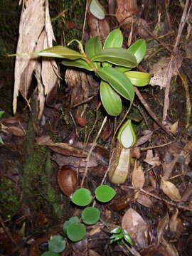
{"type": "Polygon", "coordinates": [[[125,122],[119,129],[117,139],[126,149],[129,149],[130,147],[134,146],[137,137],[134,133],[131,120],[127,120],[127,122],[125,122]]]}

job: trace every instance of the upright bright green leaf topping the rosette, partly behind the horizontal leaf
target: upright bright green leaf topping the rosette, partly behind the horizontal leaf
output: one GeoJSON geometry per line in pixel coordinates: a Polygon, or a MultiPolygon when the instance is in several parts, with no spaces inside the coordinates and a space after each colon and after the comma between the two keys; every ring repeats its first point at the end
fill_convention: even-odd
{"type": "MultiPolygon", "coordinates": [[[[103,48],[115,48],[115,47],[122,47],[122,42],[123,42],[123,36],[122,36],[122,31],[120,31],[119,28],[114,29],[109,33],[107,38],[105,39],[105,43],[103,48]]],[[[110,63],[102,63],[102,67],[111,67],[112,64],[110,63]]]]}

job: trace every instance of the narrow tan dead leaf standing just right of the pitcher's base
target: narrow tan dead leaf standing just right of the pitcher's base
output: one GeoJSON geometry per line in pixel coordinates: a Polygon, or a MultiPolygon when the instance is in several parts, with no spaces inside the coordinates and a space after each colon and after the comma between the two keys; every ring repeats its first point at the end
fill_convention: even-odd
{"type": "Polygon", "coordinates": [[[132,174],[132,185],[134,188],[143,188],[144,181],[144,171],[142,169],[142,166],[137,167],[137,161],[135,161],[134,170],[132,174]]]}

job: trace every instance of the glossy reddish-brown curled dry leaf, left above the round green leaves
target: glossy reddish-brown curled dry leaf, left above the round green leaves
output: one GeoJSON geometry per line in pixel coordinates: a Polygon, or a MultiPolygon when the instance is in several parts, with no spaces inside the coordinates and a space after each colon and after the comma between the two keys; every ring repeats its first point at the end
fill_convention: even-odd
{"type": "Polygon", "coordinates": [[[66,196],[70,196],[78,188],[76,172],[69,166],[62,166],[58,171],[58,185],[66,196]]]}

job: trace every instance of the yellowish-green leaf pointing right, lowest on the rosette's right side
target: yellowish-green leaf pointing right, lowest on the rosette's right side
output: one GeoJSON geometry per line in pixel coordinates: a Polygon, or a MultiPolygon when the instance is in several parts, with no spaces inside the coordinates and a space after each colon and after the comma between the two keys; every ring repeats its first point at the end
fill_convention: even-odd
{"type": "Polygon", "coordinates": [[[139,71],[125,72],[124,75],[129,78],[134,86],[145,86],[149,84],[151,75],[149,73],[139,71]]]}

